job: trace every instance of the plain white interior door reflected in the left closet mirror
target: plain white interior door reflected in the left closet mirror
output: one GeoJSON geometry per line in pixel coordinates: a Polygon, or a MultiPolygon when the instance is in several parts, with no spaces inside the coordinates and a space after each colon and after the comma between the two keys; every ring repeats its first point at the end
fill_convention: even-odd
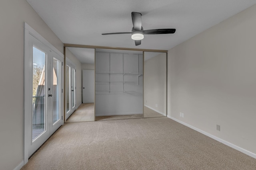
{"type": "Polygon", "coordinates": [[[94,70],[83,70],[83,103],[94,103],[94,70]]]}

